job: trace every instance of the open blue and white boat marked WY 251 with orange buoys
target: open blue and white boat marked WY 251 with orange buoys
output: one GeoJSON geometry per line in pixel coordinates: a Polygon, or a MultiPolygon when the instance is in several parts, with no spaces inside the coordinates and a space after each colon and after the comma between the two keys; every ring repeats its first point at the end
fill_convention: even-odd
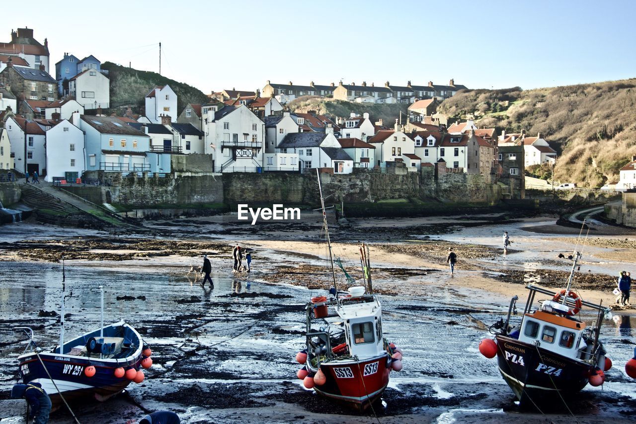
{"type": "Polygon", "coordinates": [[[48,393],[53,410],[78,399],[104,401],[124,390],[131,381],[144,381],[141,368],[152,365],[148,346],[137,330],[121,321],[104,326],[104,290],[99,329],[64,341],[64,290],[60,344],[42,351],[34,341],[33,330],[17,327],[29,337],[25,352],[18,357],[23,383],[40,383],[48,393]]]}

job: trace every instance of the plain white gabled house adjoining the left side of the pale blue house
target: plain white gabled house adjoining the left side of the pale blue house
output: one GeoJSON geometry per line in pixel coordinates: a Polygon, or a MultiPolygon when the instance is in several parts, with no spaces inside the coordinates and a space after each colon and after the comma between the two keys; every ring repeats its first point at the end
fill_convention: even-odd
{"type": "Polygon", "coordinates": [[[86,170],[86,152],[84,150],[84,132],[62,120],[46,131],[46,181],[61,177],[75,181],[86,170]]]}

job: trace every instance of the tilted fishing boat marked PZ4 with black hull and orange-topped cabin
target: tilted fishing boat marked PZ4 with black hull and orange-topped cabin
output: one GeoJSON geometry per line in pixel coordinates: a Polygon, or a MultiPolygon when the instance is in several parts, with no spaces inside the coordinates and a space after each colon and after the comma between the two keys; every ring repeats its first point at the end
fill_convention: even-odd
{"type": "Polygon", "coordinates": [[[529,295],[521,322],[511,325],[518,296],[508,307],[508,316],[490,327],[493,339],[483,339],[480,352],[497,357],[502,377],[520,401],[520,406],[544,402],[565,402],[588,383],[600,386],[612,362],[605,357],[599,340],[603,320],[611,319],[608,307],[586,302],[571,289],[581,253],[574,251],[572,270],[566,288],[553,292],[541,286],[526,286],[529,295]],[[535,299],[546,295],[548,299],[535,299]],[[596,311],[588,327],[579,312],[583,307],[596,311]]]}

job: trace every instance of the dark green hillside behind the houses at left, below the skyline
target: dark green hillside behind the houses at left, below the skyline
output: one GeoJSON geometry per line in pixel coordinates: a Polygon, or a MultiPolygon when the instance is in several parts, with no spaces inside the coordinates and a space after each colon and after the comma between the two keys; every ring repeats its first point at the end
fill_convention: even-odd
{"type": "Polygon", "coordinates": [[[111,80],[111,107],[144,106],[144,97],[156,85],[170,85],[177,94],[179,112],[188,103],[203,103],[208,97],[198,88],[188,84],[170,80],[155,72],[137,71],[132,67],[119,66],[112,62],[104,62],[102,69],[108,69],[111,80]]]}

